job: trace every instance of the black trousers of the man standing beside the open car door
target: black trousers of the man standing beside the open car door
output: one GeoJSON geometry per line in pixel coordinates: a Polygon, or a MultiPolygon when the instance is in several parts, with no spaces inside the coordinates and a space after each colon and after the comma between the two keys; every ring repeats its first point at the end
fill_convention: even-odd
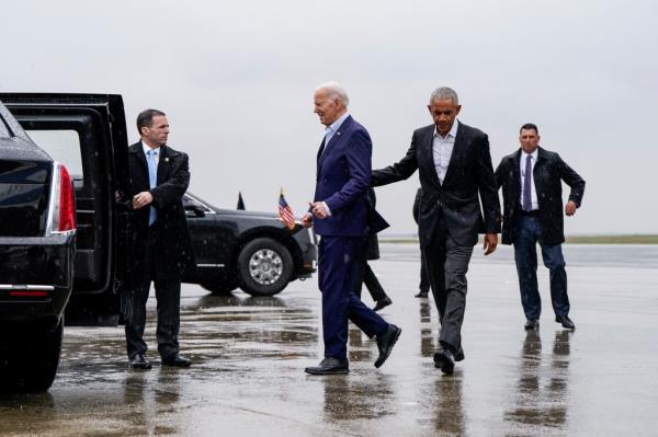
{"type": "Polygon", "coordinates": [[[158,278],[156,266],[159,251],[157,248],[157,232],[155,229],[149,229],[145,260],[147,276],[132,286],[132,320],[126,320],[125,326],[126,347],[131,359],[147,350],[144,330],[146,327],[146,301],[151,281],[156,288],[158,302],[158,327],[156,331],[158,352],[162,358],[179,353],[181,279],[180,277],[158,278]]]}

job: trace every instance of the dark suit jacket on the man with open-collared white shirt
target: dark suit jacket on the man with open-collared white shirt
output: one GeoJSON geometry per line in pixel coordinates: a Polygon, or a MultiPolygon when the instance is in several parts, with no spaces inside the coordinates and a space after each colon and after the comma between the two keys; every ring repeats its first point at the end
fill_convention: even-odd
{"type": "Polygon", "coordinates": [[[408,179],[418,170],[422,188],[418,217],[421,246],[430,243],[439,220],[445,220],[457,244],[475,245],[478,232],[500,232],[500,203],[489,140],[483,131],[460,123],[447,173],[441,184],[432,153],[433,134],[434,125],[413,131],[405,158],[375,170],[371,183],[373,186],[390,184],[408,179]]]}

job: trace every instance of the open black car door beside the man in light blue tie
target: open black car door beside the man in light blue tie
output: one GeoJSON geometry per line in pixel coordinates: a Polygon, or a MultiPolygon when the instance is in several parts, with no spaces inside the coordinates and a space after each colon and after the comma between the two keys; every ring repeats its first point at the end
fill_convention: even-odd
{"type": "Polygon", "coordinates": [[[0,100],[73,181],[78,234],[67,324],[116,324],[132,214],[121,95],[0,93],[0,100]]]}

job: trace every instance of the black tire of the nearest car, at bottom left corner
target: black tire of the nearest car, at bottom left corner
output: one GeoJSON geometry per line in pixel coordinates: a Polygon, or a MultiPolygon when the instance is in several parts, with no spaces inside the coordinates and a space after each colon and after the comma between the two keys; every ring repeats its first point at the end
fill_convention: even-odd
{"type": "Polygon", "coordinates": [[[64,318],[53,327],[34,329],[11,342],[2,378],[12,391],[42,392],[53,384],[64,333],[64,318]]]}

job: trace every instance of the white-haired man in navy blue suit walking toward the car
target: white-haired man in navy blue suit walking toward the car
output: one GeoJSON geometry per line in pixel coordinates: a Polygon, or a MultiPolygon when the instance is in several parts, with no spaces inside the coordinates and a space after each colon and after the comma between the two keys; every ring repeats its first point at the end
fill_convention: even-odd
{"type": "Polygon", "coordinates": [[[321,84],[315,91],[315,113],[326,126],[326,134],[318,151],[314,202],[302,220],[305,227],[313,225],[321,237],[318,283],[322,292],[325,359],[306,368],[311,375],[349,372],[348,319],[368,337],[376,337],[377,368],[388,358],[402,331],[367,308],[352,291],[365,238],[387,223],[366,195],[372,141],[367,130],[348,113],[348,94],[336,82],[321,84]]]}

